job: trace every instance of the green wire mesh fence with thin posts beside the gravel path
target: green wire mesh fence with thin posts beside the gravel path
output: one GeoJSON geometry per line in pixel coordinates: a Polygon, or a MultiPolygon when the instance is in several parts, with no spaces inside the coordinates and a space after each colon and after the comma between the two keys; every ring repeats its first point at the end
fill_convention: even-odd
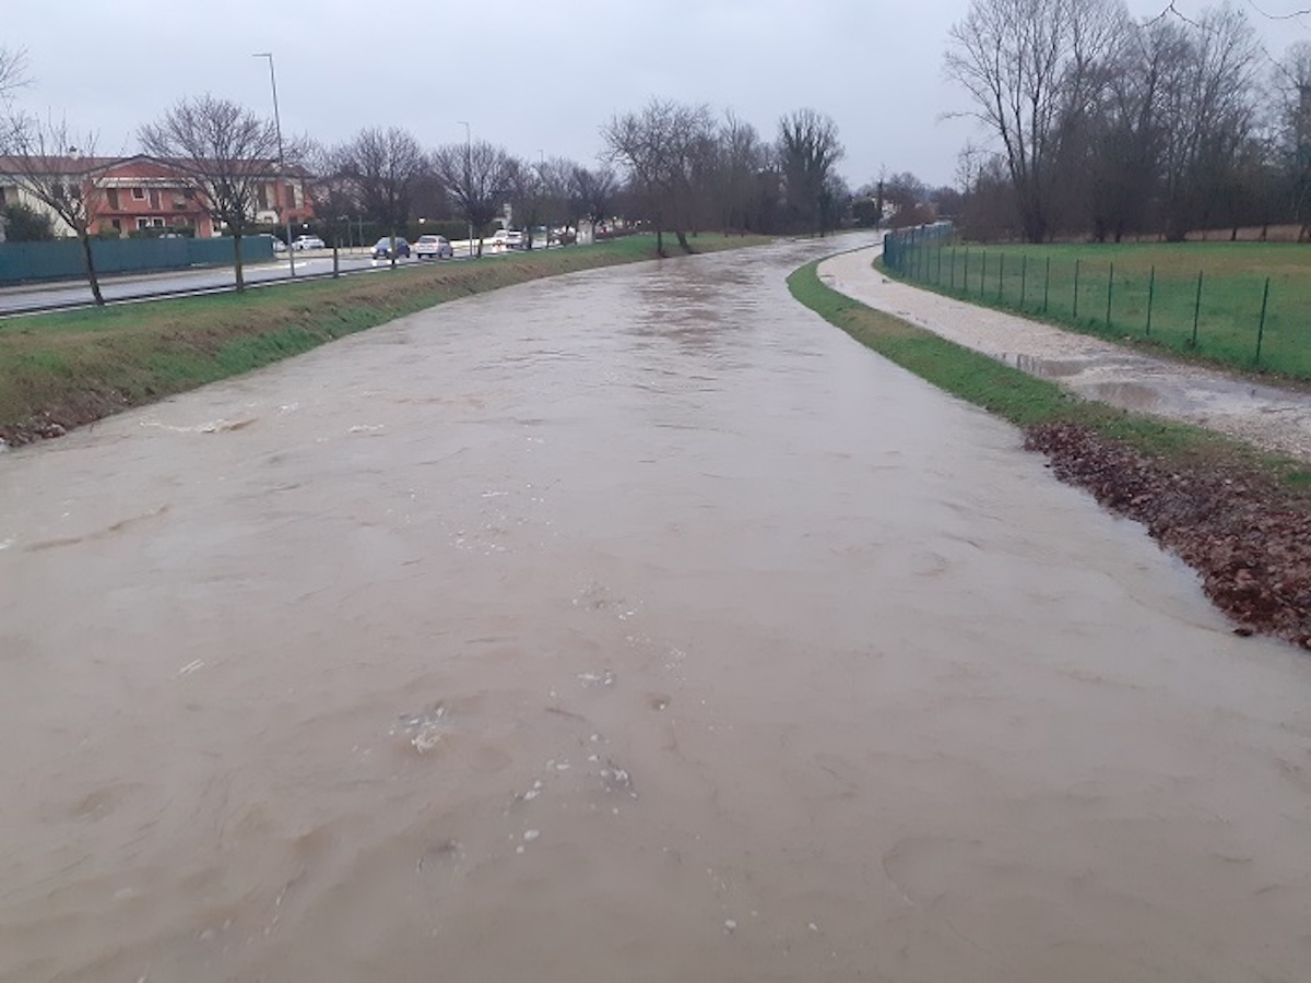
{"type": "Polygon", "coordinates": [[[1092,334],[1150,339],[1224,364],[1311,379],[1304,275],[1207,273],[1173,260],[1168,267],[1124,260],[1117,266],[1042,252],[962,245],[949,224],[884,239],[889,270],[944,294],[1092,334]]]}

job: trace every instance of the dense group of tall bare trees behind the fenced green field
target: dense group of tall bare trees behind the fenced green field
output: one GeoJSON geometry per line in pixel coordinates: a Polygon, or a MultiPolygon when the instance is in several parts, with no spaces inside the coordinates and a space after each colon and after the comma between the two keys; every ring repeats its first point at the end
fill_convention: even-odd
{"type": "Polygon", "coordinates": [[[1311,45],[1272,64],[1238,8],[973,0],[945,68],[992,140],[964,178],[994,235],[1311,228],[1311,45]]]}

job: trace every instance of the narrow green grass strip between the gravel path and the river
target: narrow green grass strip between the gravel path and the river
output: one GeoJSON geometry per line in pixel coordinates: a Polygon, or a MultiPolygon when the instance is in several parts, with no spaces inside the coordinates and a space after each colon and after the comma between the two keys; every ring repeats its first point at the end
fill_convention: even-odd
{"type": "Polygon", "coordinates": [[[1177,461],[1239,461],[1286,488],[1311,485],[1306,464],[1268,455],[1202,427],[1120,410],[1071,396],[1058,384],[950,342],[825,286],[802,266],[788,278],[792,295],[830,324],[945,392],[1019,427],[1072,423],[1146,455],[1177,461]]]}

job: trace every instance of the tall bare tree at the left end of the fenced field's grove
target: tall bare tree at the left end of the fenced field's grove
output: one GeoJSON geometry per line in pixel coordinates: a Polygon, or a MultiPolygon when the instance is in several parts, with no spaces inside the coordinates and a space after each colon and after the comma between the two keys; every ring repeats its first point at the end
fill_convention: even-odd
{"type": "Polygon", "coordinates": [[[1003,147],[1025,237],[1047,237],[1062,140],[1100,97],[1122,38],[1121,0],[973,0],[945,69],[1003,147]]]}

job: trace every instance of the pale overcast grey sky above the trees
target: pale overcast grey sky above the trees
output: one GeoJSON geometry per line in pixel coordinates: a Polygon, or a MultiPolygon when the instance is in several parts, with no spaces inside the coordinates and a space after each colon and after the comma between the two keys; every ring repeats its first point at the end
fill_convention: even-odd
{"type": "MultiPolygon", "coordinates": [[[[1272,55],[1311,41],[1311,0],[1235,0],[1272,55]]],[[[1138,16],[1168,0],[1130,0],[1138,16]]],[[[1185,14],[1205,0],[1176,0],[1185,14]]],[[[881,168],[949,183],[970,138],[943,79],[968,0],[4,0],[0,45],[26,48],[21,98],[136,149],[138,127],[211,92],[326,143],[397,125],[429,147],[475,139],[594,164],[598,130],[652,96],[733,109],[772,139],[809,106],[838,123],[859,186],[881,168]]]]}

